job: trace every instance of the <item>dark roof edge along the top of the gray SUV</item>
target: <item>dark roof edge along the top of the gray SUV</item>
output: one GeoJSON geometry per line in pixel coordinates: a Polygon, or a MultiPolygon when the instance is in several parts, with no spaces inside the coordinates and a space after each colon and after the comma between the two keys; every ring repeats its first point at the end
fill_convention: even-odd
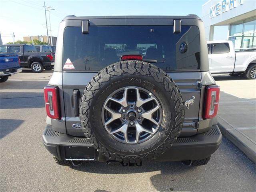
{"type": "MultiPolygon", "coordinates": [[[[86,20],[86,19],[135,19],[135,18],[172,18],[172,19],[200,19],[197,15],[189,14],[187,16],[81,16],[68,15],[63,20],[86,20]]],[[[201,19],[200,19],[201,20],[201,19]]]]}

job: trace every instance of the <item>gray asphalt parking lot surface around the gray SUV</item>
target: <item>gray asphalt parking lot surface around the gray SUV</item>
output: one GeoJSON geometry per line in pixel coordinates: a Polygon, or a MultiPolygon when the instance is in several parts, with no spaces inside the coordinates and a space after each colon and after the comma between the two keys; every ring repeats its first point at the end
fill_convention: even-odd
{"type": "Polygon", "coordinates": [[[58,166],[41,138],[46,121],[43,88],[52,72],[24,70],[0,85],[1,192],[255,191],[255,164],[224,137],[205,166],[180,162],[144,162],[141,167],[96,162],[78,168],[58,166]]]}

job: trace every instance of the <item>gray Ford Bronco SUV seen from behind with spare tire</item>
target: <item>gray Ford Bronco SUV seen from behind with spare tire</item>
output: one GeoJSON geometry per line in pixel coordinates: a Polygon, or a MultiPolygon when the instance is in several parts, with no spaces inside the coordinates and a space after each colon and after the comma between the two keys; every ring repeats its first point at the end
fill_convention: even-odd
{"type": "Polygon", "coordinates": [[[204,165],[222,140],[219,94],[198,16],[67,16],[43,143],[67,166],[204,165]]]}

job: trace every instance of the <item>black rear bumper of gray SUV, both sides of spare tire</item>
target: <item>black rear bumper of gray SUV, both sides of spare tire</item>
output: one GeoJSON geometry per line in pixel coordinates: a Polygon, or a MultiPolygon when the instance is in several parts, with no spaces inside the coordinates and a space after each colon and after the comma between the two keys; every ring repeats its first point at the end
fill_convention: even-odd
{"type": "MultiPolygon", "coordinates": [[[[104,156],[92,147],[90,139],[78,138],[54,132],[50,125],[43,134],[46,149],[61,160],[87,160],[104,162],[104,156]]],[[[204,159],[213,154],[220,146],[222,135],[217,125],[209,132],[176,140],[157,161],[182,161],[204,159]]]]}

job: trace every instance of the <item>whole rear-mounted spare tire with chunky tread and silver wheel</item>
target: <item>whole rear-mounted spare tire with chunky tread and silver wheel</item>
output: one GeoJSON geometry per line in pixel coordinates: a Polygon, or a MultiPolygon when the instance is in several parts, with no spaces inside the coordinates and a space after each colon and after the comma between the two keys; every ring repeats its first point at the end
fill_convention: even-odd
{"type": "Polygon", "coordinates": [[[79,106],[82,130],[106,160],[155,159],[172,146],[184,121],[178,86],[166,72],[142,61],[102,69],[79,106]]]}

